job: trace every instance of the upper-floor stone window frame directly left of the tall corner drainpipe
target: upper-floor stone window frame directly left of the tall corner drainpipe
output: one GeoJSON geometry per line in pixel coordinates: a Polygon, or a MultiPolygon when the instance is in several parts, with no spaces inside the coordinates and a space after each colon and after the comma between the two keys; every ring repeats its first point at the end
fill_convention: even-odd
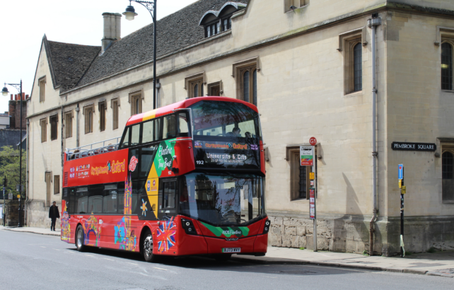
{"type": "MultiPolygon", "coordinates": [[[[344,95],[350,95],[353,93],[360,93],[363,90],[355,90],[354,83],[354,47],[356,44],[361,44],[362,47],[366,47],[368,42],[366,41],[366,26],[362,28],[356,28],[347,32],[339,34],[339,47],[338,52],[341,52],[344,56],[344,95]]],[[[361,56],[364,54],[362,51],[361,56]]],[[[364,58],[361,57],[361,68],[364,63],[364,58]]],[[[363,72],[363,68],[361,69],[363,72]]],[[[363,75],[363,73],[361,74],[363,75]]],[[[361,81],[363,84],[363,81],[361,81]]]]}

